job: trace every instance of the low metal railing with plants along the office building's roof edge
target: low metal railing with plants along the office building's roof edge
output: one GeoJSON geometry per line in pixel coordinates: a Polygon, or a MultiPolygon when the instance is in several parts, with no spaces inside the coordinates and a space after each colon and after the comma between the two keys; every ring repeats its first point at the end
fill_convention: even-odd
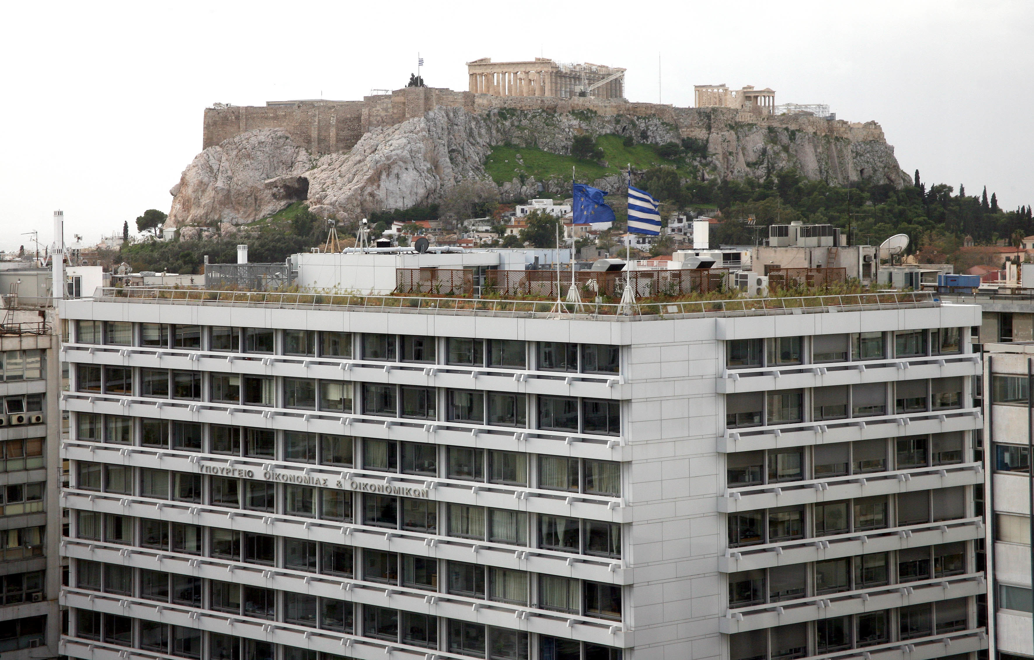
{"type": "Polygon", "coordinates": [[[172,287],[98,287],[93,300],[105,303],[263,307],[293,310],[334,310],[577,318],[581,320],[658,320],[708,316],[764,316],[815,314],[828,311],[868,311],[938,307],[930,291],[841,293],[790,297],[735,297],[691,302],[634,304],[568,303],[513,298],[433,297],[429,295],[365,295],[352,293],[282,293],[275,291],[199,290],[172,287]]]}

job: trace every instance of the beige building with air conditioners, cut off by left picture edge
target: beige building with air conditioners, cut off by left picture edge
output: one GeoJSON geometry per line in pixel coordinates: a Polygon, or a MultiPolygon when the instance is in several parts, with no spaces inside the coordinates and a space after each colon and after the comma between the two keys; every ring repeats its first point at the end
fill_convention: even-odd
{"type": "MultiPolygon", "coordinates": [[[[10,273],[27,284],[49,276],[5,275],[10,273]]],[[[5,303],[13,309],[0,309],[0,654],[4,660],[56,658],[62,580],[60,337],[50,298],[5,303]]]]}

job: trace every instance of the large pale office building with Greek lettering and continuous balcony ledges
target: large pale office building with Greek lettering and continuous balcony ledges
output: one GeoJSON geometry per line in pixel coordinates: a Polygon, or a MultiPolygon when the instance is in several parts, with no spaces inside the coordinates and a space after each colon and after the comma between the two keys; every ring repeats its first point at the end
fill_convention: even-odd
{"type": "Polygon", "coordinates": [[[975,307],[149,295],[63,304],[69,656],[986,649],[975,307]]]}

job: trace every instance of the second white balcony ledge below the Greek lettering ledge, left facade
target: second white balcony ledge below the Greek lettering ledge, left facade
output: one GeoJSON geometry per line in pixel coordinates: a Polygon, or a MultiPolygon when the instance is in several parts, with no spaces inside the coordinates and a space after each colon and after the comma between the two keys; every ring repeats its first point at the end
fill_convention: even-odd
{"type": "Polygon", "coordinates": [[[607,639],[601,639],[599,643],[610,643],[609,635],[621,629],[620,622],[605,619],[591,619],[483,598],[454,596],[288,568],[270,568],[71,538],[63,539],[61,545],[64,548],[63,556],[66,557],[150,570],[158,569],[208,579],[230,580],[252,587],[336,598],[381,607],[395,607],[503,628],[515,627],[514,621],[517,620],[525,622],[520,624],[521,629],[548,635],[562,635],[560,628],[568,628],[568,623],[572,622],[572,626],[586,626],[586,630],[595,629],[599,633],[608,635],[607,639]]]}

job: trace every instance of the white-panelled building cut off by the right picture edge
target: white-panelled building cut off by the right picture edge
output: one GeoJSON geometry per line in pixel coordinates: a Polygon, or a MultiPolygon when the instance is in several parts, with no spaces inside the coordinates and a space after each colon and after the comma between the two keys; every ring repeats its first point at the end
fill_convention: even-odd
{"type": "Polygon", "coordinates": [[[1034,343],[987,343],[985,389],[990,392],[984,437],[990,445],[985,489],[987,548],[994,589],[989,590],[994,660],[1034,656],[1031,597],[1032,446],[1030,383],[1034,343]]]}

